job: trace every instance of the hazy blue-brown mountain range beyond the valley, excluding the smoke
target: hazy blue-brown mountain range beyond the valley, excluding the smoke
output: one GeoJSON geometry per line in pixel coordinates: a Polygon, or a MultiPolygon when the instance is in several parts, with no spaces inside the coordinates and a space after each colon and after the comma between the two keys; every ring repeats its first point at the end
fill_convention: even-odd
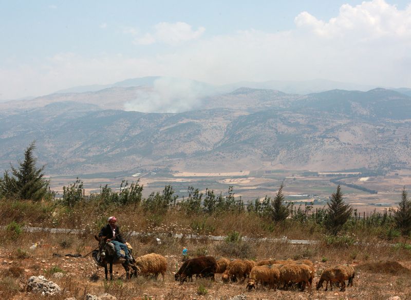
{"type": "Polygon", "coordinates": [[[153,93],[156,78],[0,103],[0,171],[34,140],[39,164],[52,175],[411,167],[411,97],[404,91],[205,93],[210,87],[195,82],[201,92],[186,111],[126,111],[153,93]]]}

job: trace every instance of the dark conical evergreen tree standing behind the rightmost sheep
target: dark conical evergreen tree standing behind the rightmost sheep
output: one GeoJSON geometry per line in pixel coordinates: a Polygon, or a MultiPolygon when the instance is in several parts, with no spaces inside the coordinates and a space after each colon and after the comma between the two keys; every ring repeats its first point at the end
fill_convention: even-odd
{"type": "Polygon", "coordinates": [[[331,195],[327,205],[325,227],[331,234],[336,235],[352,214],[352,207],[344,203],[340,185],[338,185],[337,191],[331,195]]]}

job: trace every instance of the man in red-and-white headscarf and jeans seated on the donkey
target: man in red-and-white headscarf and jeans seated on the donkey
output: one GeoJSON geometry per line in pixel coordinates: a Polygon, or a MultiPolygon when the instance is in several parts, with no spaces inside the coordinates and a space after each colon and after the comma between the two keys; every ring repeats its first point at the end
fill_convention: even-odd
{"type": "Polygon", "coordinates": [[[133,249],[130,244],[128,244],[124,237],[120,233],[120,227],[116,225],[117,219],[115,216],[110,216],[108,219],[108,224],[101,228],[99,237],[106,237],[106,242],[110,242],[114,245],[116,249],[117,260],[125,259],[125,263],[133,264],[133,257],[128,251],[128,247],[133,249]],[[128,247],[127,247],[128,246],[128,247]],[[121,254],[121,249],[124,251],[125,255],[121,254]]]}

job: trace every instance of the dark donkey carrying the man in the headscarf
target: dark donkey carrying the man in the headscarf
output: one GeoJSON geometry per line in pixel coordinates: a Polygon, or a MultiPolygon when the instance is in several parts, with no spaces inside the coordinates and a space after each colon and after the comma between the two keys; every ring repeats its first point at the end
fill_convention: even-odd
{"type": "MultiPolygon", "coordinates": [[[[131,276],[135,275],[137,276],[137,267],[134,264],[129,264],[128,262],[125,261],[125,259],[116,259],[116,251],[111,248],[106,242],[107,237],[102,236],[98,237],[97,235],[94,236],[97,241],[99,241],[99,251],[100,251],[100,257],[101,257],[101,263],[98,263],[100,266],[104,266],[104,273],[106,275],[106,280],[107,278],[107,264],[110,265],[110,280],[113,280],[113,264],[121,264],[126,272],[126,278],[130,278],[129,274],[129,266],[132,267],[133,271],[131,273],[131,276]]],[[[133,259],[134,260],[134,259],[133,259]]]]}

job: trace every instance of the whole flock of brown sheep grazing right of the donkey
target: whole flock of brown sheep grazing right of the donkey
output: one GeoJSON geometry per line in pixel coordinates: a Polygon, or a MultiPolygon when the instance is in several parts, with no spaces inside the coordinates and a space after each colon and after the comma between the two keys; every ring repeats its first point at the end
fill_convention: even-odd
{"type": "MultiPolygon", "coordinates": [[[[164,281],[164,275],[167,270],[166,258],[160,254],[151,253],[140,256],[136,259],[137,275],[154,275],[157,279],[161,274],[164,281]]],[[[227,258],[220,258],[216,261],[213,256],[199,256],[183,262],[182,266],[175,273],[175,280],[183,284],[185,281],[196,277],[210,278],[215,281],[214,274],[222,274],[222,282],[245,282],[248,278],[247,289],[255,289],[258,285],[268,286],[269,288],[287,289],[297,284],[302,291],[305,287],[311,290],[314,277],[314,266],[308,259],[301,261],[275,260],[268,259],[259,262],[247,259],[235,259],[230,261],[227,258]]],[[[328,283],[332,290],[332,283],[341,284],[340,291],[344,291],[346,281],[348,286],[352,287],[352,281],[355,270],[349,265],[339,265],[333,268],[325,269],[316,285],[319,290],[326,282],[325,290],[328,289],[328,283]]]]}

